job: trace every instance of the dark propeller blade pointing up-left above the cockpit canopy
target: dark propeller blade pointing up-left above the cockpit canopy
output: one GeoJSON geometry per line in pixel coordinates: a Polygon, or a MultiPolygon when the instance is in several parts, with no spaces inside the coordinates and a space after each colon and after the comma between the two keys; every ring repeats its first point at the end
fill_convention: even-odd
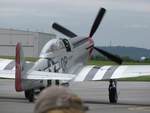
{"type": "Polygon", "coordinates": [[[57,23],[53,23],[52,27],[53,27],[55,30],[61,32],[62,34],[66,35],[66,36],[68,36],[68,37],[70,37],[70,38],[74,38],[74,37],[77,36],[75,33],[71,32],[70,30],[64,28],[63,26],[61,26],[61,25],[59,25],[59,24],[57,24],[57,23]]]}

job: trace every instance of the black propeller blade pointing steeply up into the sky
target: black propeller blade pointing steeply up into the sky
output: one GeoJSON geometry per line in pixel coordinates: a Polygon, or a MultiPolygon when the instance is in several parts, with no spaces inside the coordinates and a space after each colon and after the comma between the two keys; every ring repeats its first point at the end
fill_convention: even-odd
{"type": "Polygon", "coordinates": [[[96,32],[98,26],[100,25],[100,22],[102,20],[102,18],[104,17],[104,14],[105,14],[105,9],[104,8],[101,8],[95,18],[95,21],[93,23],[93,26],[91,28],[91,31],[90,31],[90,35],[89,37],[92,37],[94,35],[94,33],[96,32]]]}

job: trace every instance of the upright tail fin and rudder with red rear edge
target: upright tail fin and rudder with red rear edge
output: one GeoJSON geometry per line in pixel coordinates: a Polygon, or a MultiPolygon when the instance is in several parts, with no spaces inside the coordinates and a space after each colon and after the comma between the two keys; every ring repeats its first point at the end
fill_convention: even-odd
{"type": "Polygon", "coordinates": [[[23,91],[22,76],[25,66],[25,59],[20,43],[16,45],[16,72],[15,72],[15,89],[16,91],[23,91]]]}

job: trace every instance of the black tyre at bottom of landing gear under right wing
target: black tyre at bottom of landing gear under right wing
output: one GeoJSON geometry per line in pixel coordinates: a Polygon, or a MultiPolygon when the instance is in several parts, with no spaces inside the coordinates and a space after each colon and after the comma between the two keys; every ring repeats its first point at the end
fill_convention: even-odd
{"type": "Polygon", "coordinates": [[[110,103],[117,103],[118,95],[117,95],[116,87],[109,88],[109,101],[110,101],[110,103]]]}

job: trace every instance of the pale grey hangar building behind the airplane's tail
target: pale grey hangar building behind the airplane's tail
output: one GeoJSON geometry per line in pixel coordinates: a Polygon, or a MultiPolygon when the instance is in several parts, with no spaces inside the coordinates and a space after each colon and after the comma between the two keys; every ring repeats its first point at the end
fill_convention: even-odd
{"type": "Polygon", "coordinates": [[[0,56],[15,56],[17,42],[21,42],[26,57],[38,57],[42,47],[55,34],[0,28],[0,56]]]}

